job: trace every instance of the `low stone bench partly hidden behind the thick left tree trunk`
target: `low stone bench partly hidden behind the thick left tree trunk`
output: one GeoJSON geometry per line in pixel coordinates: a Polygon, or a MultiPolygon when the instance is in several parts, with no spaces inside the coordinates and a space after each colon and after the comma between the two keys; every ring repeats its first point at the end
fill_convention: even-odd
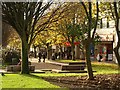
{"type": "MultiPolygon", "coordinates": [[[[34,71],[35,70],[35,66],[34,65],[29,65],[29,69],[30,71],[34,71]]],[[[9,65],[6,67],[7,71],[12,71],[12,72],[18,72],[21,71],[21,65],[9,65]]]]}

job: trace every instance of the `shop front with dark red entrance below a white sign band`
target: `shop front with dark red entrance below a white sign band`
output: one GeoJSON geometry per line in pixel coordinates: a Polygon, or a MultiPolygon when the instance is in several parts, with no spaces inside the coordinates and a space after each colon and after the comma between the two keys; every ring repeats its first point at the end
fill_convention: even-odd
{"type": "Polygon", "coordinates": [[[101,61],[112,61],[113,60],[113,35],[102,34],[99,35],[101,40],[95,45],[95,57],[99,54],[102,59],[101,61]]]}

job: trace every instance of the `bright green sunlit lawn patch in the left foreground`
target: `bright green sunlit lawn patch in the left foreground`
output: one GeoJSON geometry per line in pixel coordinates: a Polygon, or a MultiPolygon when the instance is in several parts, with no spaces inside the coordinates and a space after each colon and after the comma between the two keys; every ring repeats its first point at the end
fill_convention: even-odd
{"type": "Polygon", "coordinates": [[[2,88],[59,88],[35,75],[5,74],[2,88]]]}

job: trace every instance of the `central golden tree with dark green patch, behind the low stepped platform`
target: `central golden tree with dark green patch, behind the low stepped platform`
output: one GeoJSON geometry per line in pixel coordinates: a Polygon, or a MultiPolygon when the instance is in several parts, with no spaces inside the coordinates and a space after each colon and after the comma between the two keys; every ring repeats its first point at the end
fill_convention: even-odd
{"type": "Polygon", "coordinates": [[[77,37],[80,37],[82,33],[81,24],[84,22],[85,14],[82,10],[82,5],[79,3],[69,2],[63,7],[67,8],[67,10],[63,12],[65,17],[59,20],[55,27],[57,32],[71,44],[72,59],[75,60],[74,42],[79,41],[77,37]],[[81,8],[81,10],[79,10],[79,8],[81,8]]]}

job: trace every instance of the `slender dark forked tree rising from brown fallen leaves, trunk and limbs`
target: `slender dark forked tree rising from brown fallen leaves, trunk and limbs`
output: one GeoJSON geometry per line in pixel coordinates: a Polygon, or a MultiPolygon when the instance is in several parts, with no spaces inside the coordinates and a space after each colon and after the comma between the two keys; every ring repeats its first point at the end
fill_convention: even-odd
{"type": "Polygon", "coordinates": [[[89,0],[89,2],[86,4],[85,2],[80,2],[82,6],[84,7],[84,10],[87,15],[88,19],[88,32],[87,32],[87,38],[85,40],[85,47],[86,47],[86,62],[87,62],[87,71],[88,71],[88,78],[89,79],[94,79],[93,77],[93,71],[92,71],[92,65],[90,61],[90,44],[93,43],[94,37],[95,37],[95,32],[96,32],[96,27],[97,27],[97,21],[98,21],[98,2],[96,2],[96,20],[95,20],[95,25],[94,25],[94,31],[91,35],[91,30],[92,30],[92,2],[89,0]],[[88,8],[87,8],[88,7],[88,8]]]}

